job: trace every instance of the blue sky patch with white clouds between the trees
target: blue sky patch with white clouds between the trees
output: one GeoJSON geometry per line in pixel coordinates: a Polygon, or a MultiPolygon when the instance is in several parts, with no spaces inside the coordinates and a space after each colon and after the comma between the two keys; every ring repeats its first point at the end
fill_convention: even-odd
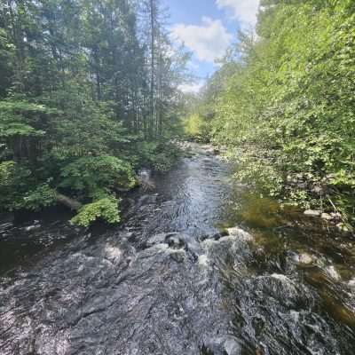
{"type": "Polygon", "coordinates": [[[255,26],[259,0],[162,0],[162,4],[169,8],[172,40],[193,52],[189,67],[200,77],[181,89],[197,92],[217,69],[215,59],[223,57],[237,30],[255,26]]]}

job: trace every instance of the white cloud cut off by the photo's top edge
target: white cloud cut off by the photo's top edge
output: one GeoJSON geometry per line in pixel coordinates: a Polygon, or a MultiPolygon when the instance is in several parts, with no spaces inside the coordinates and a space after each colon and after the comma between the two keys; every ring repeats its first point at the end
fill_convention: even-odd
{"type": "Polygon", "coordinates": [[[233,17],[241,21],[242,25],[256,25],[256,14],[259,8],[259,0],[216,0],[220,9],[229,9],[233,17]]]}

